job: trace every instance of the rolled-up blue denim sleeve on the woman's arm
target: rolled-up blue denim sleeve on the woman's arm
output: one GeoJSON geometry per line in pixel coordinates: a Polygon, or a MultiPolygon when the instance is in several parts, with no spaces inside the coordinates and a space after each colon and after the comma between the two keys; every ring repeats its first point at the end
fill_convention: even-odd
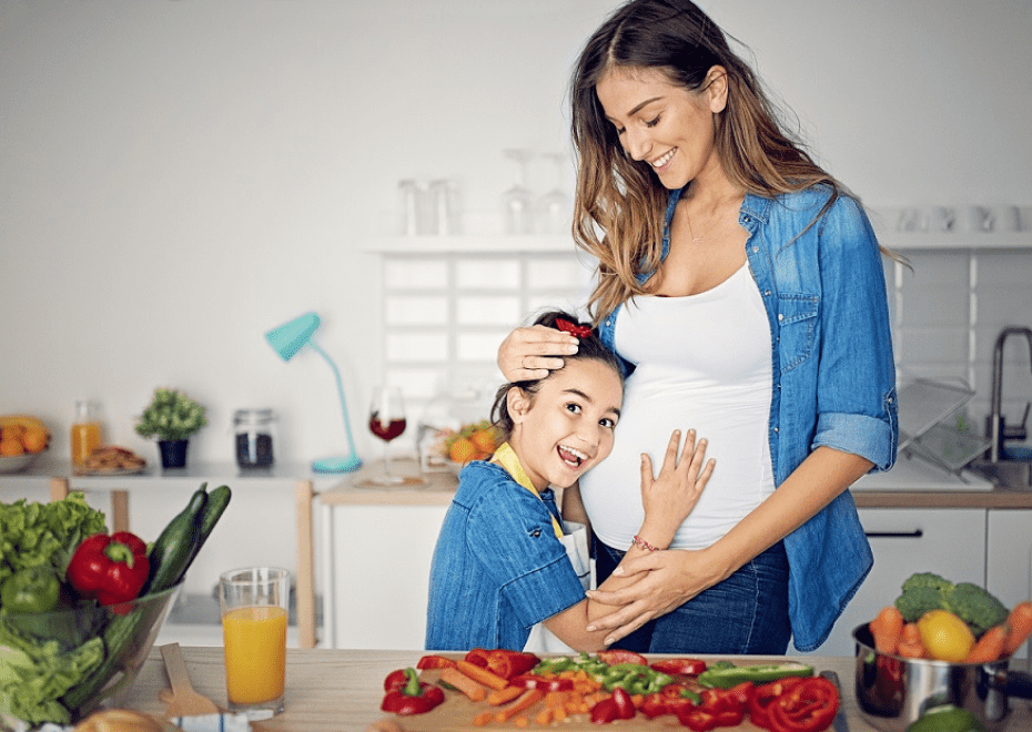
{"type": "Polygon", "coordinates": [[[859,204],[839,199],[821,222],[821,350],[813,447],[896,461],[896,364],[881,254],[859,204]]]}

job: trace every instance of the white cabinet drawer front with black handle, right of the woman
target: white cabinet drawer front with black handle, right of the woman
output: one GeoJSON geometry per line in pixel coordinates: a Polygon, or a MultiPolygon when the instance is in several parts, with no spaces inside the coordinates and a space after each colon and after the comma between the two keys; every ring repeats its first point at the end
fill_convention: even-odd
{"type": "MultiPolygon", "coordinates": [[[[914,572],[985,583],[984,509],[868,508],[859,514],[874,551],[874,567],[817,649],[820,655],[854,655],[853,629],[896,600],[903,580],[914,572]]],[[[1028,553],[1026,545],[1026,562],[1028,553]]]]}

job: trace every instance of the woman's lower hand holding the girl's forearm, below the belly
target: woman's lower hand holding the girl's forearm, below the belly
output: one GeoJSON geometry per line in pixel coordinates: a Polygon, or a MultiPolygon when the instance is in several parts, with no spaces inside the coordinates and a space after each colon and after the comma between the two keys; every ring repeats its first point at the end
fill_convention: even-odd
{"type": "Polygon", "coordinates": [[[651,551],[636,558],[625,557],[613,573],[639,576],[640,579],[615,592],[589,590],[587,594],[593,601],[623,608],[596,618],[587,629],[613,630],[605,640],[606,645],[610,645],[712,587],[724,579],[724,573],[716,571],[714,563],[707,560],[707,549],[674,549],[651,551]]]}

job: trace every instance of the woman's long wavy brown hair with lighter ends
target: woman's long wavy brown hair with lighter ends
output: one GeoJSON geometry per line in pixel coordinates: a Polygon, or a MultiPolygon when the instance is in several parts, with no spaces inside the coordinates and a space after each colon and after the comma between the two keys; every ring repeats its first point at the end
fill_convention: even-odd
{"type": "Polygon", "coordinates": [[[688,0],[633,0],[588,40],[570,84],[577,155],[574,241],[598,260],[598,283],[588,299],[597,323],[636,294],[662,250],[669,192],[648,163],[624,153],[595,88],[613,68],[658,69],[671,83],[696,92],[715,65],[727,71],[727,106],[717,115],[716,146],[730,181],[772,197],[827,185],[829,207],[849,192],[822,170],[778,122],[773,105],[725,33],[688,0]]]}

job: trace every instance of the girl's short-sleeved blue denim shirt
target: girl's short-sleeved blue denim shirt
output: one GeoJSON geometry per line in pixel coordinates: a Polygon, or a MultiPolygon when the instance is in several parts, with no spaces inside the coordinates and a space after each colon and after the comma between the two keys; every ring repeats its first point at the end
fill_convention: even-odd
{"type": "Polygon", "coordinates": [[[494,462],[459,474],[431,565],[428,650],[523,650],[530,628],[585,598],[552,489],[540,498],[494,462]]]}

